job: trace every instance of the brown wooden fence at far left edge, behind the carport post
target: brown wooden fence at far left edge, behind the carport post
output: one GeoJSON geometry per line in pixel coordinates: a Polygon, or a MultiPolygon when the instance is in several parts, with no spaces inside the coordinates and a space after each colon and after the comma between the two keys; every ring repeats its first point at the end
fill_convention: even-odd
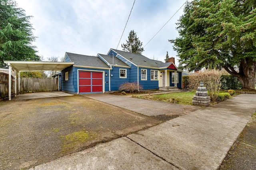
{"type": "MultiPolygon", "coordinates": [[[[12,94],[14,94],[14,76],[12,76],[12,94]]],[[[9,74],[0,72],[0,98],[9,95],[9,74]]]]}

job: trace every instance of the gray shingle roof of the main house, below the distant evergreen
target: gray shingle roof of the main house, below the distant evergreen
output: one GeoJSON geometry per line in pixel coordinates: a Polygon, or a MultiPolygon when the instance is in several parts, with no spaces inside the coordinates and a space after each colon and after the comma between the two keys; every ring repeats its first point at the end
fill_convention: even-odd
{"type": "Polygon", "coordinates": [[[160,64],[163,64],[162,61],[152,60],[144,55],[141,54],[135,54],[135,53],[129,53],[125,51],[120,51],[116,49],[112,49],[113,51],[116,51],[116,53],[120,54],[122,57],[126,58],[128,61],[131,61],[132,63],[136,64],[137,66],[146,66],[146,67],[159,67],[160,64]]]}

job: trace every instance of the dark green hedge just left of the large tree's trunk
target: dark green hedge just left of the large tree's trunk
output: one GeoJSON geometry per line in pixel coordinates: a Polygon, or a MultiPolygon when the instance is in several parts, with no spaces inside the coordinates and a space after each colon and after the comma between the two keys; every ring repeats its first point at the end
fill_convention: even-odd
{"type": "Polygon", "coordinates": [[[242,84],[239,78],[232,75],[222,75],[221,79],[221,89],[229,90],[229,89],[241,89],[242,84]]]}

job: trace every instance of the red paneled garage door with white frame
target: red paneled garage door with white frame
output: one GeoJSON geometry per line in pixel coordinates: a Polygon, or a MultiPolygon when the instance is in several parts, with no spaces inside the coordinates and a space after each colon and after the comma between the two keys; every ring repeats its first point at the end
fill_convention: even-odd
{"type": "Polygon", "coordinates": [[[79,71],[79,93],[103,92],[102,72],[79,71]]]}

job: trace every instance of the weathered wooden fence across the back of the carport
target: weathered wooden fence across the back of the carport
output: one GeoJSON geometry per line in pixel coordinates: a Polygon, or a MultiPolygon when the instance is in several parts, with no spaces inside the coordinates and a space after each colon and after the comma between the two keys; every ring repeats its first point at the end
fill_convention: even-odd
{"type": "Polygon", "coordinates": [[[20,78],[20,93],[26,93],[29,91],[58,91],[58,78],[20,78]]]}

